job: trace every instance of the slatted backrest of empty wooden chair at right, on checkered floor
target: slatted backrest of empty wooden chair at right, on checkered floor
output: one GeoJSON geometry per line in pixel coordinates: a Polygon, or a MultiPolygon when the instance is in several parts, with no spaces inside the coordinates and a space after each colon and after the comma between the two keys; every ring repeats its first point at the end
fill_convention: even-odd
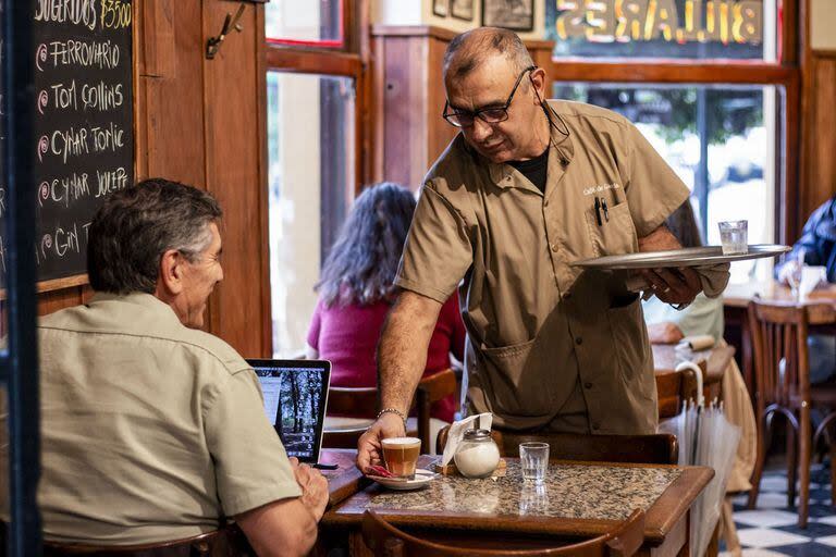
{"type": "Polygon", "coordinates": [[[755,299],[749,302],[748,317],[758,404],[809,400],[808,307],[755,299]]]}

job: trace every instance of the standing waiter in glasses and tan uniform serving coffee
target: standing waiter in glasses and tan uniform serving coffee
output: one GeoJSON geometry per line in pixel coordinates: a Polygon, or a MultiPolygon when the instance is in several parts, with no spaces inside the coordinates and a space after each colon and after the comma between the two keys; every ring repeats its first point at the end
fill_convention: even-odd
{"type": "MultiPolygon", "coordinates": [[[[623,116],[549,101],[522,41],[482,27],[444,55],[445,120],[462,129],[425,178],[378,349],[381,411],[357,463],[405,433],[439,310],[456,287],[468,330],[468,413],[497,429],[655,432],[652,352],[625,276],[573,261],[676,249],[664,227],[688,188],[623,116]]],[[[668,304],[690,269],[644,271],[668,304]]],[[[726,274],[727,280],[727,274],[726,274]]]]}

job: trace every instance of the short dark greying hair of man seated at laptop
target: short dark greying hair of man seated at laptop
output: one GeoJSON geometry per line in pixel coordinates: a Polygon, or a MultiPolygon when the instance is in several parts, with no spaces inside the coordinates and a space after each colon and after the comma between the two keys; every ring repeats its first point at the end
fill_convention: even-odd
{"type": "Polygon", "coordinates": [[[87,273],[97,292],[152,294],[160,259],[169,249],[195,261],[212,240],[209,224],[221,218],[207,191],[150,178],[112,194],[89,228],[87,273]]]}

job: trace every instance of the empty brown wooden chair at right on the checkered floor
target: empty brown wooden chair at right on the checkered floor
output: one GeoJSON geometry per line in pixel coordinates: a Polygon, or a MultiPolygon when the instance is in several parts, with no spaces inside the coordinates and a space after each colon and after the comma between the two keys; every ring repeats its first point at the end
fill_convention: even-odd
{"type": "MultiPolygon", "coordinates": [[[[836,408],[836,388],[810,385],[808,360],[809,307],[792,304],[749,304],[748,319],[754,360],[755,420],[758,423],[758,459],[752,473],[749,508],[758,503],[763,463],[766,458],[772,421],[785,418],[787,428],[787,500],[795,504],[796,473],[800,479],[798,525],[807,527],[810,504],[811,421],[810,409],[819,406],[836,408]],[[800,466],[799,466],[800,465],[800,466]]],[[[827,413],[817,434],[833,421],[827,413]]],[[[833,445],[831,446],[833,454],[833,445]]],[[[832,474],[834,474],[832,467],[832,474]]],[[[836,484],[832,486],[836,497],[836,484]]]]}

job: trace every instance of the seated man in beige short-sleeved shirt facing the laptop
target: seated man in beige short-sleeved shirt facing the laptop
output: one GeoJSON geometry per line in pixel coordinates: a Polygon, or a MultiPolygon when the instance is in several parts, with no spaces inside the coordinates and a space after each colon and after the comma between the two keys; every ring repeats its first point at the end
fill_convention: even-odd
{"type": "Polygon", "coordinates": [[[209,194],[164,180],[113,194],[96,214],[96,295],[38,324],[46,540],[160,543],[229,517],[259,555],[314,545],[324,478],[287,459],[251,368],[197,330],[223,278],[220,218],[209,194]]]}

